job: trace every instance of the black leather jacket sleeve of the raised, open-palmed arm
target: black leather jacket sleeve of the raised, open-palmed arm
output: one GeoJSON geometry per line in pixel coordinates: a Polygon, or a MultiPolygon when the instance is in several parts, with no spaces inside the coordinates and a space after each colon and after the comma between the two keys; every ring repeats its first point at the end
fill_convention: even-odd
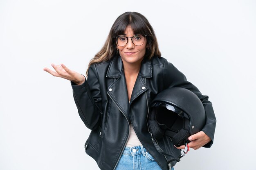
{"type": "Polygon", "coordinates": [[[89,129],[96,129],[101,121],[101,92],[97,71],[91,65],[88,78],[82,85],[71,82],[73,96],[80,118],[89,129]]]}

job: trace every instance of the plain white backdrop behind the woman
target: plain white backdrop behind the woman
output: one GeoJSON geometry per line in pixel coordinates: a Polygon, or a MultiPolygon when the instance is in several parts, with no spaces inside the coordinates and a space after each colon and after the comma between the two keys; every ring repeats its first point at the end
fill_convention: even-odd
{"type": "Polygon", "coordinates": [[[43,68],[85,74],[126,11],[146,16],[162,56],[213,102],[213,146],[175,170],[255,170],[255,9],[254,0],[0,0],[0,170],[99,169],[70,82],[43,68]]]}

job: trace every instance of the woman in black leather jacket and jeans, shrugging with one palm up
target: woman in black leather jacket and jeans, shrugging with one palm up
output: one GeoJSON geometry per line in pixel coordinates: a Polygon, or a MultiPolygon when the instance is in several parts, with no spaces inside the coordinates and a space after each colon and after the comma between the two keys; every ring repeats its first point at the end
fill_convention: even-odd
{"type": "MultiPolygon", "coordinates": [[[[189,89],[204,104],[206,124],[189,137],[190,148],[213,143],[216,118],[208,96],[161,57],[153,28],[140,13],[126,12],[117,18],[103,48],[89,63],[87,80],[63,64],[52,67],[56,72],[44,70],[71,81],[79,115],[92,130],[85,151],[102,170],[168,169],[147,125],[150,101],[166,88],[189,89]]],[[[184,148],[171,147],[173,155],[184,148]]]]}

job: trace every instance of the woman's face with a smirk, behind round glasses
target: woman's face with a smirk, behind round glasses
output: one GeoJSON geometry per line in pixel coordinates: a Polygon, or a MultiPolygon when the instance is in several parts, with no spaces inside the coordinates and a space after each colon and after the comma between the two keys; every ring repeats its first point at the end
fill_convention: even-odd
{"type": "MultiPolygon", "coordinates": [[[[124,32],[124,36],[132,37],[133,35],[134,34],[132,28],[130,26],[127,26],[124,32]]],[[[128,43],[125,46],[117,46],[123,63],[140,64],[146,53],[146,45],[147,40],[145,37],[144,43],[141,46],[135,46],[130,38],[128,38],[128,43]]]]}

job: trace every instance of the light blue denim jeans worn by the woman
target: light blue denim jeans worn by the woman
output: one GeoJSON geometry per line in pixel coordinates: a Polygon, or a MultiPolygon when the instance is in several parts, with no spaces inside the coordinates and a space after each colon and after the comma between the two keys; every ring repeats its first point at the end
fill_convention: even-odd
{"type": "MultiPolygon", "coordinates": [[[[143,146],[125,147],[115,170],[162,170],[143,146]]],[[[172,167],[172,170],[173,167],[172,167]]]]}

